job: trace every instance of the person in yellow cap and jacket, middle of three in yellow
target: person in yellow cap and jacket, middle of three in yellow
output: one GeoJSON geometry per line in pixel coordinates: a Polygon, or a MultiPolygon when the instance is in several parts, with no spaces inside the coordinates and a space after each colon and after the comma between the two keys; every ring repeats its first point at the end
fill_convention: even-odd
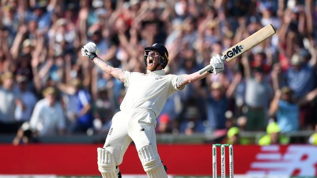
{"type": "Polygon", "coordinates": [[[280,134],[280,128],[276,122],[271,122],[266,127],[267,135],[261,137],[258,141],[258,144],[271,145],[271,144],[288,144],[290,142],[289,138],[280,134]]]}

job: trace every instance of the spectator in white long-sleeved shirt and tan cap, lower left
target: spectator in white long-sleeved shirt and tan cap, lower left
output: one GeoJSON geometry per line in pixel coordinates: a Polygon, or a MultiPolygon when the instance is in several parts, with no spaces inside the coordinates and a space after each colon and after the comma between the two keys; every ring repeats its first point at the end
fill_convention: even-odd
{"type": "Polygon", "coordinates": [[[63,135],[66,125],[56,89],[45,88],[43,97],[44,99],[39,100],[34,107],[30,120],[31,129],[38,132],[39,136],[63,135]]]}

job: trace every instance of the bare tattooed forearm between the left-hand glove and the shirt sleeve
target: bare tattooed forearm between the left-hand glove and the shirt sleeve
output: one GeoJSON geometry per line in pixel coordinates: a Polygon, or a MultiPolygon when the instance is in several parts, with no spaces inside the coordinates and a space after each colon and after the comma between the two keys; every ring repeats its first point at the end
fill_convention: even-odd
{"type": "Polygon", "coordinates": [[[98,57],[93,59],[93,61],[98,67],[101,68],[101,70],[103,70],[107,74],[110,74],[114,78],[122,82],[125,82],[125,70],[120,68],[114,68],[109,62],[104,61],[103,59],[100,59],[98,57]]]}

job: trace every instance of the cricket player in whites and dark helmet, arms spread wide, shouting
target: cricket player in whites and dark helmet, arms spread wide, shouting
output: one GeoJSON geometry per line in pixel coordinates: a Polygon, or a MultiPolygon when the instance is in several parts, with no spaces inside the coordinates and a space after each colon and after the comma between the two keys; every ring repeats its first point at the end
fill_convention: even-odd
{"type": "Polygon", "coordinates": [[[112,118],[112,125],[103,148],[98,148],[98,169],[103,178],[121,178],[118,166],[122,163],[127,147],[133,140],[148,178],[167,178],[158,155],[155,138],[156,118],[169,95],[184,89],[186,84],[205,78],[210,73],[217,75],[224,69],[219,55],[210,60],[211,68],[200,75],[165,75],[163,70],[169,62],[169,53],[162,44],[146,47],[142,60],[147,74],[128,72],[112,67],[96,55],[96,44],[88,42],[82,55],[89,57],[104,72],[124,82],[127,94],[120,105],[120,112],[112,118]]]}

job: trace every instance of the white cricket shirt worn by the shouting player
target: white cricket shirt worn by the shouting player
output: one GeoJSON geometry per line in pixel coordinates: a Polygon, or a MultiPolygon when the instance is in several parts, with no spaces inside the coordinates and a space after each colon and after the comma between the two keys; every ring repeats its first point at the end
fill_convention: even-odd
{"type": "Polygon", "coordinates": [[[185,87],[177,89],[177,76],[165,75],[164,70],[148,71],[148,74],[126,71],[125,75],[125,86],[128,89],[120,105],[121,111],[149,109],[157,117],[169,95],[175,91],[183,90],[185,87]]]}

